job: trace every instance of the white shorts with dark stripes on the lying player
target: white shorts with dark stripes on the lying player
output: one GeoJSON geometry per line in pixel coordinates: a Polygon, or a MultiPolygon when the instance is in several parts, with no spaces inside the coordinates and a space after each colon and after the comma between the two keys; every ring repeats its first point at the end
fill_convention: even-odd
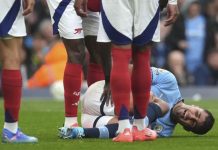
{"type": "Polygon", "coordinates": [[[100,101],[104,89],[104,80],[92,84],[81,100],[82,127],[92,128],[106,125],[114,117],[114,106],[106,106],[100,101]]]}

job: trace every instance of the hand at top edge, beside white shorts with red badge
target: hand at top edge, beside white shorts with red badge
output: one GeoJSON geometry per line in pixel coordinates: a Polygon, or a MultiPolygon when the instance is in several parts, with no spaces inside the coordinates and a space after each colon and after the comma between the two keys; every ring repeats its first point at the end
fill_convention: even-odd
{"type": "Polygon", "coordinates": [[[74,9],[80,17],[87,17],[87,0],[75,0],[74,9]]]}

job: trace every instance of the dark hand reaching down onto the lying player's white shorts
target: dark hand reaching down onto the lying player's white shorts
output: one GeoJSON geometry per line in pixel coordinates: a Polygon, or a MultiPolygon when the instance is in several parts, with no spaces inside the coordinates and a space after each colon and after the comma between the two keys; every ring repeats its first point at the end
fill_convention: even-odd
{"type": "Polygon", "coordinates": [[[113,106],[113,100],[111,99],[111,89],[110,89],[110,83],[105,83],[104,85],[104,91],[101,95],[100,101],[105,101],[106,106],[111,104],[113,106]]]}

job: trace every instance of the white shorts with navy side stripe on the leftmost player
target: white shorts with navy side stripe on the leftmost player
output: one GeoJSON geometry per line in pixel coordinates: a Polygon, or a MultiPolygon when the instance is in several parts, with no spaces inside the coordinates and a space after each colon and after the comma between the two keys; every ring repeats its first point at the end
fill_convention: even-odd
{"type": "Polygon", "coordinates": [[[0,0],[0,37],[26,35],[22,0],[0,0]]]}

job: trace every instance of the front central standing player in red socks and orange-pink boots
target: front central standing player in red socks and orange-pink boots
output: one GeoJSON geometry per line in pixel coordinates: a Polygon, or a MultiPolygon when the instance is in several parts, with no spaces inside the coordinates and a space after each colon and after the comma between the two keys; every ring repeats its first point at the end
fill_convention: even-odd
{"type": "MultiPolygon", "coordinates": [[[[77,8],[77,13],[84,15],[85,12],[80,8],[77,8]]],[[[176,5],[168,6],[166,25],[174,21],[176,8],[176,5]]],[[[115,103],[115,113],[119,120],[119,134],[113,140],[117,142],[143,141],[145,140],[144,132],[152,133],[145,129],[144,123],[151,84],[150,51],[146,51],[146,45],[150,41],[159,41],[158,0],[149,2],[102,0],[101,19],[98,40],[112,41],[111,92],[115,103]],[[128,72],[131,58],[134,66],[132,79],[128,72]],[[131,89],[135,118],[133,132],[128,120],[131,89]]]]}

